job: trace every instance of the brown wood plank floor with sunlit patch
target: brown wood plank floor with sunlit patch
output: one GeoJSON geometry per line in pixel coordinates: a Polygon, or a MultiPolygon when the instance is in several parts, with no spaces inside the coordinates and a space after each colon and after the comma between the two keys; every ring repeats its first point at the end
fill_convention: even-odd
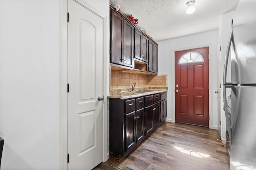
{"type": "Polygon", "coordinates": [[[94,170],[229,170],[226,145],[217,139],[217,130],[165,122],[121,163],[94,170]]]}

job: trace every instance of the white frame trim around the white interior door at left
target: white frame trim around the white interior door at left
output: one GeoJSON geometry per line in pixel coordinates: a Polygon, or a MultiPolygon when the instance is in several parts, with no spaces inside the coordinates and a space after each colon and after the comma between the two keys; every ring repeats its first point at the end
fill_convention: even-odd
{"type": "MultiPolygon", "coordinates": [[[[108,160],[108,106],[107,106],[107,74],[108,74],[108,16],[96,10],[84,0],[75,0],[88,10],[103,19],[103,162],[108,160]]],[[[60,169],[68,169],[68,0],[60,1],[60,169]]]]}

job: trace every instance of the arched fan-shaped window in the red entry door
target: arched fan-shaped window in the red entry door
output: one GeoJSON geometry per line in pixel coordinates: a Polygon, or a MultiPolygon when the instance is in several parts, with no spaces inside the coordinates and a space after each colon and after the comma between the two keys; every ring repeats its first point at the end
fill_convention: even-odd
{"type": "Polygon", "coordinates": [[[198,62],[204,62],[204,58],[199,53],[196,53],[193,51],[185,53],[180,57],[180,60],[179,60],[179,64],[198,63],[198,62]]]}

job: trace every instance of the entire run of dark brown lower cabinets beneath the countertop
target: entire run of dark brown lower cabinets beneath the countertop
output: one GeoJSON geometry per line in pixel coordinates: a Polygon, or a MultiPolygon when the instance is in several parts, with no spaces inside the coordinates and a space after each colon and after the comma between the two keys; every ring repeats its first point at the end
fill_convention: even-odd
{"type": "MultiPolygon", "coordinates": [[[[121,100],[109,98],[109,158],[121,162],[161,120],[160,95],[121,100]]],[[[164,100],[163,100],[164,101],[164,100]]]]}

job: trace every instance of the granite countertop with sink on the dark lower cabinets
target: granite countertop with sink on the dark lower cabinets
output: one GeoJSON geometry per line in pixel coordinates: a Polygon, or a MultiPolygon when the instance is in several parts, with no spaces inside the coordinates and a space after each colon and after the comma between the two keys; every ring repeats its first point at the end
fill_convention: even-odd
{"type": "Polygon", "coordinates": [[[148,96],[150,94],[156,94],[156,93],[163,93],[167,92],[166,89],[152,89],[152,90],[147,90],[147,92],[117,92],[117,93],[112,93],[108,96],[108,98],[120,98],[120,99],[130,99],[130,98],[137,98],[141,96],[148,96]]]}

